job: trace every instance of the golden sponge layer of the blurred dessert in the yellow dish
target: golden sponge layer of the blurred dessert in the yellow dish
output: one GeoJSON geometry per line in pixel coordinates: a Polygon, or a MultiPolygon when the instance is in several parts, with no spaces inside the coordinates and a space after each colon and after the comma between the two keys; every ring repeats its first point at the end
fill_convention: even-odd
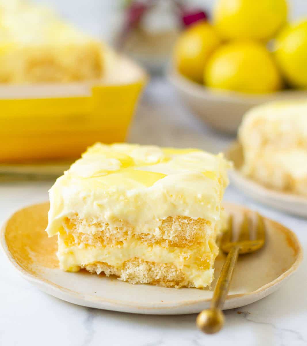
{"type": "Polygon", "coordinates": [[[1,83],[93,80],[103,71],[101,46],[96,42],[21,47],[3,54],[0,61],[1,83]]]}

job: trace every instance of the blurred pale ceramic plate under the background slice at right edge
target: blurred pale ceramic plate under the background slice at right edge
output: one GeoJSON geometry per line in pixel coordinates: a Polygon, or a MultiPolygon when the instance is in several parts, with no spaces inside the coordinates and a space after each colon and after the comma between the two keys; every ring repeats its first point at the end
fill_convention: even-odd
{"type": "Polygon", "coordinates": [[[226,151],[226,157],[234,163],[234,170],[228,172],[230,180],[243,193],[270,207],[307,217],[307,198],[266,188],[241,174],[240,167],[243,164],[243,152],[238,142],[231,144],[226,151]]]}

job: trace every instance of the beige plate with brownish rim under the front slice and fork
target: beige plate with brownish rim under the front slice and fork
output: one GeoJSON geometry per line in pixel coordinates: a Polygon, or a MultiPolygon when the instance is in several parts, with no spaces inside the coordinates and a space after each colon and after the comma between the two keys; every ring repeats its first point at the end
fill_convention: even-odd
{"type": "MultiPolygon", "coordinates": [[[[58,268],[56,237],[48,238],[48,203],[16,212],[3,226],[1,245],[13,267],[39,289],[71,303],[106,310],[146,314],[195,313],[209,307],[211,290],[174,289],[132,285],[87,272],[68,273],[58,268]]],[[[243,207],[227,204],[226,209],[242,215],[243,207]]],[[[252,217],[252,211],[248,211],[252,217]]],[[[237,219],[238,219],[237,218],[237,219]]],[[[302,249],[295,234],[266,219],[267,241],[256,253],[241,256],[234,271],[225,309],[255,302],[274,292],[296,271],[302,249]]],[[[224,261],[215,261],[217,277],[224,261]]]]}

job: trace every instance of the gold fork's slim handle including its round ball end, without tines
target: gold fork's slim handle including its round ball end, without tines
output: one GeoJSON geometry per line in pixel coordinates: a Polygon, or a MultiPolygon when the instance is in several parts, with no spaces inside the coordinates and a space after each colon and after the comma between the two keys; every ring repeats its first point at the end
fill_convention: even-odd
{"type": "Polygon", "coordinates": [[[196,324],[204,333],[217,333],[224,325],[222,308],[227,297],[234,266],[237,263],[240,246],[233,246],[223,264],[219,279],[215,285],[210,309],[203,310],[196,319],[196,324]]]}

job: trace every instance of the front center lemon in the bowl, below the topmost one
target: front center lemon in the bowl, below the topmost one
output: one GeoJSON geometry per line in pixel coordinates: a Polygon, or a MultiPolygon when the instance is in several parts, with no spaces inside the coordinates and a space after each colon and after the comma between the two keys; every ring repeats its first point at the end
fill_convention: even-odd
{"type": "Polygon", "coordinates": [[[233,41],[218,48],[204,71],[211,88],[268,93],[281,88],[281,77],[270,52],[258,42],[233,41]]]}

